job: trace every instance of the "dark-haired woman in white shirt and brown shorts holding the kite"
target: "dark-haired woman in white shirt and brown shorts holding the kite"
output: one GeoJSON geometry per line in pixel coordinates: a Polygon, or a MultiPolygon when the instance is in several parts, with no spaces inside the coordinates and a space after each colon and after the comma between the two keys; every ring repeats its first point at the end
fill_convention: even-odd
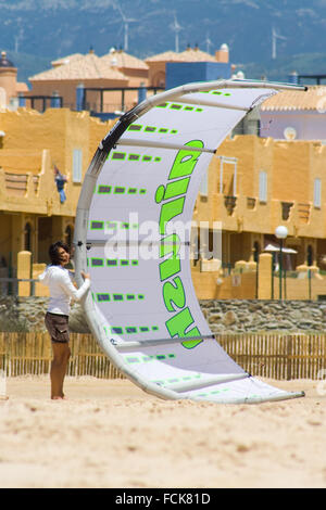
{"type": "Polygon", "coordinates": [[[70,271],[65,266],[71,255],[67,244],[58,241],[49,248],[51,265],[38,278],[41,283],[49,286],[50,299],[46,314],[46,327],[52,341],[53,360],[51,362],[51,398],[64,398],[63,381],[67,361],[71,356],[68,346],[68,316],[71,298],[80,301],[90,286],[89,275],[82,271],[83,285],[77,290],[71,280],[70,271]]]}

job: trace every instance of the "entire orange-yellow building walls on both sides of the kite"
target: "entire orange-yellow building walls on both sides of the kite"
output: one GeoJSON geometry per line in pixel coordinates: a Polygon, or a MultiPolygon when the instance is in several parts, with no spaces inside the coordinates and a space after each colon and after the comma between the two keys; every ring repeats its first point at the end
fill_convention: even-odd
{"type": "MultiPolygon", "coordinates": [[[[67,109],[49,109],[43,114],[27,109],[0,112],[0,126],[5,132],[0,149],[0,260],[4,257],[15,267],[17,253],[30,251],[33,263],[46,263],[50,242],[72,238],[83,176],[113,124],[67,109]],[[82,153],[80,182],[74,181],[74,150],[82,153]],[[63,204],[54,183],[54,165],[68,179],[63,204]]],[[[265,244],[277,242],[275,228],[285,225],[289,232],[286,246],[298,252],[291,255],[292,268],[306,264],[311,251],[311,262],[325,269],[325,167],[326,148],[318,142],[228,138],[212,158],[208,194],[199,193],[193,219],[208,222],[210,235],[214,221],[222,222],[222,262],[226,267],[233,268],[239,260],[253,263],[255,247],[262,252],[265,244]],[[221,180],[218,156],[237,160],[236,176],[234,165],[224,165],[221,180]],[[266,175],[264,200],[260,197],[262,171],[266,175]],[[317,205],[316,179],[321,179],[317,205]]],[[[253,278],[241,277],[242,286],[247,283],[239,289],[231,276],[229,280],[224,277],[229,282],[226,288],[216,283],[220,271],[210,273],[200,268],[200,264],[193,266],[192,272],[202,297],[242,296],[253,278]]]]}

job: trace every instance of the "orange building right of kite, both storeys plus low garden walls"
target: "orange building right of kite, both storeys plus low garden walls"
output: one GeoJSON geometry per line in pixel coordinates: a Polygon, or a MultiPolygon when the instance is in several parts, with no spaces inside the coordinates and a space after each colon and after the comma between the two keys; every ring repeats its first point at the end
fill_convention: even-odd
{"type": "MultiPolygon", "coordinates": [[[[268,243],[278,245],[275,229],[279,225],[289,232],[285,245],[298,252],[288,257],[288,270],[309,263],[326,269],[325,166],[326,148],[321,142],[276,141],[255,136],[237,136],[223,142],[208,170],[208,195],[198,195],[193,219],[209,221],[211,230],[214,221],[222,221],[222,262],[226,269],[234,268],[237,260],[252,262],[268,243]],[[235,167],[224,165],[221,182],[218,156],[237,158],[235,194],[235,167]],[[266,176],[265,197],[260,191],[261,173],[266,176]],[[314,205],[315,179],[321,179],[318,206],[314,205]]],[[[205,295],[215,295],[218,275],[211,279],[202,277],[202,283],[206,279],[206,289],[211,281],[205,295]]],[[[218,289],[220,296],[228,295],[223,285],[218,289]]],[[[199,288],[197,291],[202,295],[199,288]]],[[[234,289],[233,295],[237,292],[240,296],[240,289],[234,289]]]]}

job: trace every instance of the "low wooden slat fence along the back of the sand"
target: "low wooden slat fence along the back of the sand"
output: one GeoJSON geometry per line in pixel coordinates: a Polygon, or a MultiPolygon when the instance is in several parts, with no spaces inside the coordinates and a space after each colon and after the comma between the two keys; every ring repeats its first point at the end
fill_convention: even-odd
{"type": "MultiPolygon", "coordinates": [[[[217,342],[252,375],[319,379],[326,368],[326,334],[243,333],[216,335],[217,342]]],[[[68,375],[123,378],[90,334],[72,333],[68,375]]],[[[49,373],[48,333],[0,333],[0,370],[8,375],[49,373]]]]}

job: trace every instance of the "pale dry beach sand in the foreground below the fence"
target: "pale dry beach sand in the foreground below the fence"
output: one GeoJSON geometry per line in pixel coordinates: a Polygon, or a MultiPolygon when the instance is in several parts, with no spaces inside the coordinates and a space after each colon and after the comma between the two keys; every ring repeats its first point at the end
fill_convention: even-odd
{"type": "Polygon", "coordinates": [[[0,487],[326,487],[326,382],[267,381],[304,398],[166,401],[126,380],[8,379],[0,487]]]}

